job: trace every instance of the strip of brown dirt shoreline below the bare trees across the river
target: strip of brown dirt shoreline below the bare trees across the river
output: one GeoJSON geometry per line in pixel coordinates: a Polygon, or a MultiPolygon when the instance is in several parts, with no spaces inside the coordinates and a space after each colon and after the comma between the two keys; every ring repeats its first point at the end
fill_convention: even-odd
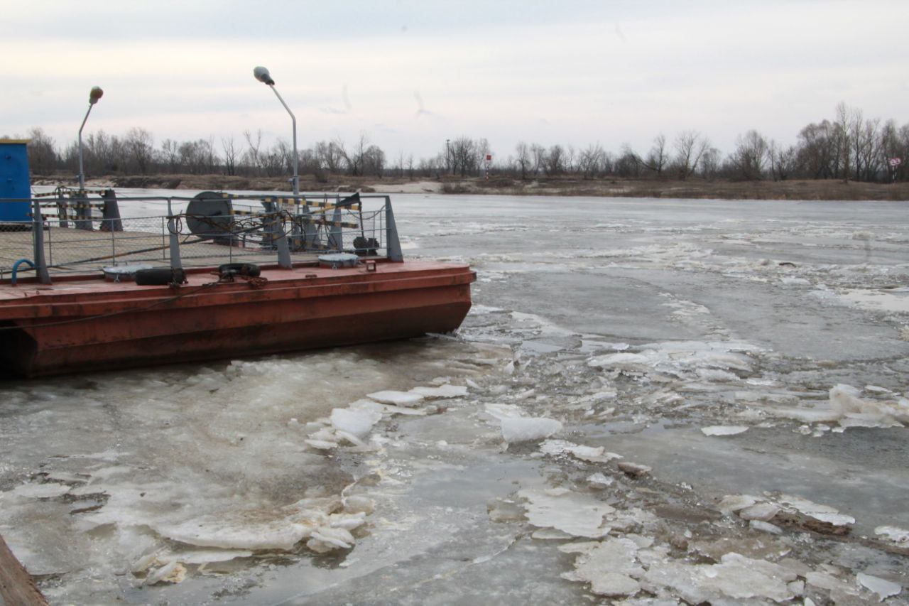
{"type": "MultiPolygon", "coordinates": [[[[75,187],[75,178],[35,176],[33,185],[75,187]]],[[[89,179],[91,187],[148,189],[213,189],[290,191],[285,177],[227,177],[224,175],[108,176],[89,179]]],[[[840,180],[728,181],[688,179],[569,177],[482,178],[331,177],[316,181],[301,177],[302,191],[363,191],[365,193],[438,193],[507,196],[664,197],[734,200],[909,200],[909,183],[882,184],[840,180]]]]}

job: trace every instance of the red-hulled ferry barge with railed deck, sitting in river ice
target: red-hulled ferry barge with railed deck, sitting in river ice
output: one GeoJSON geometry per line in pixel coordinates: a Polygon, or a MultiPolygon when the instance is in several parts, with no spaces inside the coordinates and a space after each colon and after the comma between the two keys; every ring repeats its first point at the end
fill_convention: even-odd
{"type": "Polygon", "coordinates": [[[60,187],[5,204],[27,209],[0,222],[7,375],[412,338],[458,328],[471,307],[474,271],[405,260],[386,196],[60,187]],[[135,210],[155,205],[166,212],[135,210]]]}

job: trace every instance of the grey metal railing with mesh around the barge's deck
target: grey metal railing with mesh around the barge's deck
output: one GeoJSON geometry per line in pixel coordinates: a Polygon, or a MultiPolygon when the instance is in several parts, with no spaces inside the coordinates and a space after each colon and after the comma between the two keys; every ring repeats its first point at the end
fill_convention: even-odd
{"type": "Polygon", "coordinates": [[[49,283],[65,272],[136,264],[246,261],[290,268],[325,251],[403,260],[387,196],[205,192],[117,198],[112,190],[57,190],[52,197],[0,199],[0,205],[20,209],[24,203],[29,220],[0,221],[0,279],[36,275],[49,283]],[[92,200],[89,193],[101,197],[92,200]]]}

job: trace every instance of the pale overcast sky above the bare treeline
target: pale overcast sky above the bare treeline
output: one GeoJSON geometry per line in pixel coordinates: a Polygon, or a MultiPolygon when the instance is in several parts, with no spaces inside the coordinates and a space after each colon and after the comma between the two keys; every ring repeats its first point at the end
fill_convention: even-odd
{"type": "Polygon", "coordinates": [[[366,132],[390,159],[446,138],[629,143],[694,129],[724,153],[755,128],[795,142],[837,103],[909,122],[907,0],[685,2],[4,0],[0,135],[141,126],[185,140],[290,117],[299,146],[366,132]]]}

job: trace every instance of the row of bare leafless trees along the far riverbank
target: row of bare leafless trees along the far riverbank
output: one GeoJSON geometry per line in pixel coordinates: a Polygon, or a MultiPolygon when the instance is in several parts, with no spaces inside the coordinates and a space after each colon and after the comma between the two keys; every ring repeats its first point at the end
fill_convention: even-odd
{"type": "MultiPolygon", "coordinates": [[[[78,171],[78,144],[59,147],[40,127],[28,133],[29,164],[35,175],[78,171]]],[[[155,137],[141,127],[123,136],[103,130],[85,136],[85,174],[105,175],[225,175],[282,177],[293,174],[293,149],[285,139],[264,146],[261,131],[242,137],[210,136],[192,141],[155,137]]],[[[301,175],[326,182],[331,176],[435,178],[475,177],[490,171],[514,178],[574,176],[680,179],[700,177],[734,181],[851,179],[867,182],[909,180],[909,124],[893,119],[865,118],[862,110],[841,103],[832,119],[804,126],[792,144],[767,139],[756,130],[737,137],[724,154],[703,133],[684,130],[659,134],[639,153],[623,145],[617,152],[600,143],[585,147],[542,146],[519,142],[513,150],[494,150],[485,138],[459,136],[446,140],[435,156],[395,157],[371,144],[361,133],[353,144],[341,139],[319,141],[299,151],[301,175]],[[493,157],[488,161],[488,157],[493,157]],[[893,166],[894,158],[907,159],[893,166]]]]}

